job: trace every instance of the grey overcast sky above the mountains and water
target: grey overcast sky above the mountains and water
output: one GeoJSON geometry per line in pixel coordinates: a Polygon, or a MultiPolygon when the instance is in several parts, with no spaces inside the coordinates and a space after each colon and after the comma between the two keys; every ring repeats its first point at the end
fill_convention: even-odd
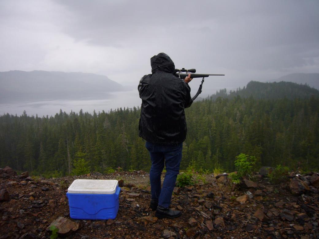
{"type": "Polygon", "coordinates": [[[0,1],[0,71],[108,76],[136,85],[150,58],[239,85],[319,73],[319,1],[0,1]]]}

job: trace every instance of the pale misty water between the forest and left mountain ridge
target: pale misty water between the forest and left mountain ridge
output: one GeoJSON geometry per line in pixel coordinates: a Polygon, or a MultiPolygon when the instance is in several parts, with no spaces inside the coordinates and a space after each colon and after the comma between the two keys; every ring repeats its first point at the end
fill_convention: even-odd
{"type": "Polygon", "coordinates": [[[25,110],[28,115],[42,116],[54,116],[62,109],[66,113],[70,113],[71,110],[78,113],[81,109],[83,112],[96,113],[99,111],[105,112],[111,109],[117,109],[122,107],[133,108],[133,106],[141,106],[142,100],[139,98],[138,91],[116,91],[108,92],[104,99],[100,97],[82,98],[78,100],[45,100],[45,101],[32,101],[32,102],[19,102],[13,104],[1,104],[0,102],[0,113],[1,114],[17,114],[18,116],[25,110]]]}

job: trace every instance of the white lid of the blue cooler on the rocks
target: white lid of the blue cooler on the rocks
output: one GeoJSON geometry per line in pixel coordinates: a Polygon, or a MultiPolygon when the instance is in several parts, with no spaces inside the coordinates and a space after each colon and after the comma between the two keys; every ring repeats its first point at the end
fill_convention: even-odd
{"type": "Polygon", "coordinates": [[[68,188],[68,193],[113,194],[118,186],[117,180],[75,179],[68,188]]]}

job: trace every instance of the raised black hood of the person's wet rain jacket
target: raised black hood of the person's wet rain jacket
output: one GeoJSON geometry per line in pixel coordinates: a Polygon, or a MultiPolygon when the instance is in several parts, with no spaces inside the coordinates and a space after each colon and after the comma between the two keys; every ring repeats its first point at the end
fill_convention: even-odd
{"type": "Polygon", "coordinates": [[[152,74],[157,71],[165,71],[175,74],[175,65],[172,59],[165,53],[159,53],[151,58],[152,74]]]}

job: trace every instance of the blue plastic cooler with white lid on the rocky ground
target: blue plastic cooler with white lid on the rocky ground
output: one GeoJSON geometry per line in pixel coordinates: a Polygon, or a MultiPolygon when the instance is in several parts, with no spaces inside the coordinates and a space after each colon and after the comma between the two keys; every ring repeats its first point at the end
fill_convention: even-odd
{"type": "Polygon", "coordinates": [[[121,188],[117,180],[76,179],[68,188],[70,217],[73,219],[115,219],[121,188]]]}

